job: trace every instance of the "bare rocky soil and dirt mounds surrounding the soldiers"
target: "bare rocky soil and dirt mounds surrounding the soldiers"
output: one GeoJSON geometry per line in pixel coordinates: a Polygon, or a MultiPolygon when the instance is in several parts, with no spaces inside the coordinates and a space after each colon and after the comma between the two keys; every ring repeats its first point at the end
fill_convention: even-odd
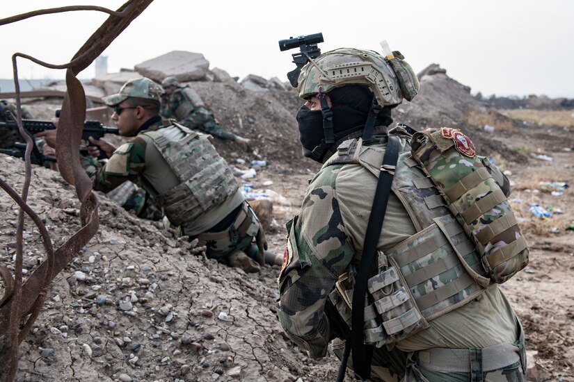
{"type": "MultiPolygon", "coordinates": [[[[529,380],[574,381],[574,231],[566,230],[574,223],[574,197],[569,188],[555,196],[543,187],[574,184],[573,132],[504,119],[442,72],[426,74],[421,82],[421,94],[395,110],[395,121],[415,128],[463,128],[479,153],[507,171],[511,201],[532,251],[527,269],[502,288],[525,326],[529,380]],[[485,132],[476,115],[488,116],[494,133],[485,132]],[[552,217],[534,217],[527,208],[532,203],[552,207],[552,217]]],[[[267,238],[271,249],[282,252],[284,224],[318,169],[301,158],[294,119],[301,101],[292,91],[253,92],[229,82],[193,85],[223,126],[257,142],[246,152],[216,140],[222,155],[237,169],[253,159],[267,160],[255,178],[238,181],[273,199],[267,238]]],[[[27,102],[38,118],[50,117],[58,103],[27,102]]],[[[0,156],[0,163],[0,178],[21,190],[22,161],[0,156]]],[[[97,235],[56,276],[33,332],[22,342],[18,381],[335,379],[338,362],[332,354],[310,360],[283,335],[276,319],[278,266],[267,265],[259,274],[225,267],[104,195],[99,201],[97,235]]],[[[74,189],[57,172],[34,168],[29,205],[45,219],[55,247],[79,228],[74,189]]],[[[16,219],[15,204],[0,192],[0,261],[8,266],[16,219]]],[[[30,221],[24,242],[29,274],[45,257],[30,221]]]]}

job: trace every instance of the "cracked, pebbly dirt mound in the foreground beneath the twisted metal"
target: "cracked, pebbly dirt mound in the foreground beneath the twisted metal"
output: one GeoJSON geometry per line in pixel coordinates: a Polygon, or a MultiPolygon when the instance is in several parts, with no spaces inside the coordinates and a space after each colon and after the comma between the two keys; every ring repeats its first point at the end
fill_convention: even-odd
{"type": "MultiPolygon", "coordinates": [[[[24,163],[1,160],[0,178],[17,189],[24,163]]],[[[268,265],[261,274],[231,269],[99,199],[99,231],[51,284],[20,348],[19,381],[330,379],[305,365],[314,363],[303,362],[282,335],[275,317],[278,267],[268,265]]],[[[79,229],[73,188],[56,172],[35,167],[29,201],[56,247],[79,229]]],[[[3,264],[15,254],[16,213],[0,193],[3,264]]],[[[31,274],[43,258],[31,222],[24,238],[24,268],[31,274]]]]}

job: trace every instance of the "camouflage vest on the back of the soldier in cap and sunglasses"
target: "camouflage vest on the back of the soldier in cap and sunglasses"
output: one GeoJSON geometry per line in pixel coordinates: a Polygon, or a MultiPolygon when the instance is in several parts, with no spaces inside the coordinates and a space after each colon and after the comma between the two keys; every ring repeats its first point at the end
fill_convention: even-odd
{"type": "Polygon", "coordinates": [[[177,175],[180,184],[158,195],[170,222],[185,231],[186,222],[223,203],[239,189],[227,163],[209,142],[209,135],[177,125],[186,135],[170,140],[162,130],[145,133],[177,175]]]}

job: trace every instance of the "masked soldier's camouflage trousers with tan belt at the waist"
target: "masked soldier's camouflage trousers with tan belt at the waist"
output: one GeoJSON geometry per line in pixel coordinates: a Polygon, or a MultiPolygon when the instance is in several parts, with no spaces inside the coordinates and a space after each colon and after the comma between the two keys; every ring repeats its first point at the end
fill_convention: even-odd
{"type": "Polygon", "coordinates": [[[433,348],[408,354],[404,382],[523,382],[526,351],[520,323],[518,340],[485,349],[433,348]]]}

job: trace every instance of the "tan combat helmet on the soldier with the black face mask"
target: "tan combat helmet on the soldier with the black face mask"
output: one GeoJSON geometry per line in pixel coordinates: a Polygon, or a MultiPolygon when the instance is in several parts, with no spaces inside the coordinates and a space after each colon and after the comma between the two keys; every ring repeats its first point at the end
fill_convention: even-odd
{"type": "Polygon", "coordinates": [[[319,90],[322,93],[328,93],[334,88],[356,84],[366,85],[375,95],[379,105],[398,105],[403,98],[412,99],[418,91],[417,76],[410,65],[401,58],[392,58],[399,62],[390,63],[391,60],[386,60],[376,51],[354,48],[328,51],[310,60],[301,69],[297,86],[299,97],[308,99],[308,97],[317,95],[319,90]],[[401,73],[395,72],[397,69],[394,68],[397,65],[394,64],[405,69],[404,72],[408,72],[404,74],[407,74],[409,83],[401,83],[401,81],[404,82],[404,78],[401,73]],[[404,85],[410,86],[409,94],[401,91],[404,85]],[[413,91],[414,94],[412,94],[413,91]]]}

